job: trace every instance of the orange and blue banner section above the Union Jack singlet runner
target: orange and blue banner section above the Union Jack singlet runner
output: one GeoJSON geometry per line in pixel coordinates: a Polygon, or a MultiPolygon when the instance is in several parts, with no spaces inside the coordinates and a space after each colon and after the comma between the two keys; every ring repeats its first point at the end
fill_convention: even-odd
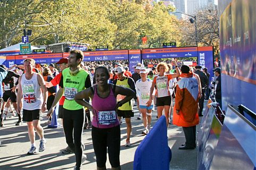
{"type": "Polygon", "coordinates": [[[62,58],[62,53],[45,53],[38,55],[19,55],[15,56],[16,65],[23,64],[25,59],[32,58],[36,61],[36,64],[55,63],[62,58]]]}

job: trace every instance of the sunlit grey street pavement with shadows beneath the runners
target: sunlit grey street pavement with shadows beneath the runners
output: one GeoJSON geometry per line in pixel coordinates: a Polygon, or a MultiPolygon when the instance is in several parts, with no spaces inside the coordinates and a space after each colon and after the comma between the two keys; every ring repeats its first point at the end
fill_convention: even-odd
{"type": "MultiPolygon", "coordinates": [[[[204,102],[204,106],[207,102],[204,102]]],[[[41,121],[41,126],[44,128],[45,138],[47,140],[46,150],[35,155],[27,155],[30,148],[30,142],[27,132],[27,124],[23,123],[21,126],[15,126],[18,117],[8,118],[5,120],[5,127],[0,128],[0,169],[1,170],[57,170],[57,169],[73,169],[75,165],[74,154],[62,154],[61,150],[66,148],[63,128],[49,129],[45,122],[46,112],[44,119],[41,121]]],[[[144,139],[141,135],[143,130],[142,120],[138,120],[138,108],[134,107],[134,117],[131,119],[132,133],[131,133],[131,146],[125,147],[126,139],[126,124],[123,121],[121,125],[121,168],[132,170],[133,159],[136,148],[144,139]]],[[[152,124],[156,123],[156,111],[152,112],[152,124]]],[[[91,116],[92,118],[92,116],[91,116]]],[[[202,118],[202,117],[201,117],[202,118]]],[[[58,119],[61,123],[61,119],[58,119]]],[[[199,126],[197,126],[199,129],[199,126]]],[[[181,144],[184,144],[185,137],[181,127],[170,124],[168,128],[168,145],[172,150],[172,160],[170,161],[170,169],[173,170],[194,170],[197,169],[197,148],[194,150],[178,150],[181,144]]],[[[96,169],[96,157],[93,151],[91,140],[91,129],[83,130],[83,144],[85,146],[84,154],[87,155],[87,160],[83,163],[81,169],[96,169]]],[[[36,145],[39,147],[39,137],[36,135],[36,145]]],[[[153,160],[152,160],[153,161],[153,160]]],[[[107,158],[107,169],[111,169],[110,163],[107,158]]],[[[158,169],[156,169],[158,170],[158,169]]],[[[159,169],[161,170],[161,169],[159,169]]]]}

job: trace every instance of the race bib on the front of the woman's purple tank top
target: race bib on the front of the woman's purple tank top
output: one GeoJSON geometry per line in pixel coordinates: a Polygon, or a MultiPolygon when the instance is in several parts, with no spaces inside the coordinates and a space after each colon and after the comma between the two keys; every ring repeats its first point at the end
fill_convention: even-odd
{"type": "Polygon", "coordinates": [[[99,124],[111,124],[116,122],[116,112],[115,111],[100,111],[98,112],[99,124]]]}

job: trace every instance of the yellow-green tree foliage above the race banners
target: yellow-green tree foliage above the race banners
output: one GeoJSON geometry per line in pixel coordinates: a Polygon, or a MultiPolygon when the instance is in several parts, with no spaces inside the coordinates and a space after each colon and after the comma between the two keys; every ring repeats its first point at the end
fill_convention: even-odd
{"type": "Polygon", "coordinates": [[[57,42],[89,43],[90,48],[161,47],[181,44],[180,21],[173,6],[151,6],[148,0],[2,0],[0,48],[21,42],[23,29],[32,30],[33,45],[57,42]],[[142,46],[141,38],[148,41],[142,46]]]}

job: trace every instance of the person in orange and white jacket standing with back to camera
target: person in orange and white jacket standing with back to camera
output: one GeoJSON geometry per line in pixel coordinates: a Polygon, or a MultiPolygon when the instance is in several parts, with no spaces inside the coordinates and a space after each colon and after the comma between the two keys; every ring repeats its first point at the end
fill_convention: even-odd
{"type": "Polygon", "coordinates": [[[186,143],[178,149],[194,149],[195,148],[195,127],[199,123],[198,116],[198,81],[193,77],[193,73],[189,73],[189,66],[181,67],[181,80],[178,81],[176,89],[175,107],[173,114],[173,124],[181,126],[186,143]]]}

